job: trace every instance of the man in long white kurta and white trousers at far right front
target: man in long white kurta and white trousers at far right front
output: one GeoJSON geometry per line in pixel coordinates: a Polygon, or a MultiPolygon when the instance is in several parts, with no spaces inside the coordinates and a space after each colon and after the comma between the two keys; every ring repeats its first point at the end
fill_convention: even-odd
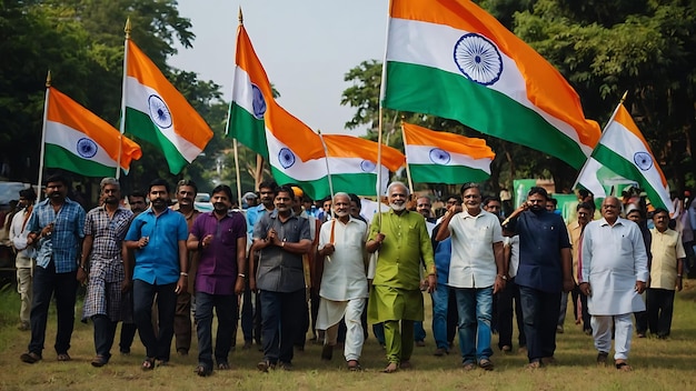
{"type": "Polygon", "coordinates": [[[603,219],[585,228],[581,249],[580,291],[588,297],[597,362],[604,364],[612,349],[612,320],[615,322],[614,360],[616,368],[629,371],[630,314],[645,311],[640,293],[648,279],[647,252],[640,229],[618,217],[620,202],[607,197],[601,203],[603,219]]]}

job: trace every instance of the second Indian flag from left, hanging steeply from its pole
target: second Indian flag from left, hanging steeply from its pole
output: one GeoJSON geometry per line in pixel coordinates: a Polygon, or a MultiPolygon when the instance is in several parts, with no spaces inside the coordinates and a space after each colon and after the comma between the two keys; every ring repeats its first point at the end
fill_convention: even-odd
{"type": "Polygon", "coordinates": [[[131,40],[126,59],[126,131],[157,146],[177,174],[202,152],[212,131],[131,40]]]}

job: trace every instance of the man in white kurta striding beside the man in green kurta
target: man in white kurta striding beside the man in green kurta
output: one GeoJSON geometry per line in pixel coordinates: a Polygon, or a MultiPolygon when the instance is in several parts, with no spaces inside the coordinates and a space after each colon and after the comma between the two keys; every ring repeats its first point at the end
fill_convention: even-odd
{"type": "Polygon", "coordinates": [[[325,257],[317,330],[326,330],[321,359],[330,360],[338,337],[338,323],[346,319],[344,355],[348,369],[360,369],[365,342],[360,315],[367,293],[366,260],[367,224],[350,215],[350,197],[334,196],[336,219],[321,225],[319,254],[325,257]]]}

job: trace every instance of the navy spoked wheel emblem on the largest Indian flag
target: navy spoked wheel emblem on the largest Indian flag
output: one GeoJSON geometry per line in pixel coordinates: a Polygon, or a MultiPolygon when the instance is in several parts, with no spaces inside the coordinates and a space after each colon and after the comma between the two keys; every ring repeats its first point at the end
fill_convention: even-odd
{"type": "Polygon", "coordinates": [[[498,48],[484,36],[461,36],[455,44],[454,57],[459,71],[474,82],[491,86],[500,79],[503,57],[498,48]]]}

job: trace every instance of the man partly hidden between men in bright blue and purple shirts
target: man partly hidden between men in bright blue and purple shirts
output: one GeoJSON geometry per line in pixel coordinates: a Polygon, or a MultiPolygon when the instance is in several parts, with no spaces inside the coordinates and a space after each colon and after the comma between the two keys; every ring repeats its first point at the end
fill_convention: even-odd
{"type": "MultiPolygon", "coordinates": [[[[171,208],[179,211],[186,218],[186,225],[188,231],[191,231],[193,222],[200,214],[200,211],[195,208],[193,201],[198,193],[198,187],[196,183],[188,179],[182,179],[177,183],[177,203],[171,208]]],[[[192,294],[196,292],[196,270],[198,269],[198,252],[188,251],[189,270],[185,270],[188,273],[188,290],[177,295],[177,313],[175,315],[175,340],[177,347],[177,353],[179,355],[188,355],[191,348],[191,301],[192,294]]]]}

